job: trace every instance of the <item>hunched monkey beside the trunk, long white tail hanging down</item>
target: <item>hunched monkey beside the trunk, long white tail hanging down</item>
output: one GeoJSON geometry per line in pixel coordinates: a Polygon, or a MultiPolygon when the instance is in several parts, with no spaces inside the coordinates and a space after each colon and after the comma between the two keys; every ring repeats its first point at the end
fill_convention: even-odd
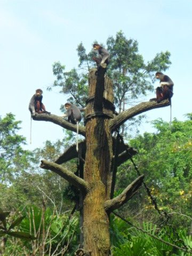
{"type": "Polygon", "coordinates": [[[72,105],[71,103],[67,102],[65,103],[65,108],[67,110],[66,114],[63,114],[62,117],[68,117],[68,122],[71,122],[72,124],[77,124],[77,145],[76,150],[78,152],[78,123],[81,121],[81,111],[84,111],[84,109],[79,109],[77,106],[72,105]]]}

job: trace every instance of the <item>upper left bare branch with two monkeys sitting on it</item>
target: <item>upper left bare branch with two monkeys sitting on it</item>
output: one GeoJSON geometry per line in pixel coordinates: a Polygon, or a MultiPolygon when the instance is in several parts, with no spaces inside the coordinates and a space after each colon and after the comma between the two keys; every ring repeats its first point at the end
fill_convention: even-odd
{"type": "MultiPolygon", "coordinates": [[[[35,116],[33,116],[33,119],[35,121],[46,121],[46,122],[58,124],[67,130],[77,132],[76,124],[71,124],[70,122],[66,121],[60,116],[56,116],[53,114],[37,114],[36,113],[35,116]]],[[[79,125],[79,134],[82,134],[83,136],[85,136],[85,127],[79,125]]]]}

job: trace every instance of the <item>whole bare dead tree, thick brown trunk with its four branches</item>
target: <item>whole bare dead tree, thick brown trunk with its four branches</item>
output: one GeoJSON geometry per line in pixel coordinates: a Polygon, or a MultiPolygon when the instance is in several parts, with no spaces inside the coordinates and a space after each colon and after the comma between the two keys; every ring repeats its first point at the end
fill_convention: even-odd
{"type": "MultiPolygon", "coordinates": [[[[79,126],[79,133],[86,138],[79,144],[85,155],[83,178],[77,177],[61,165],[69,159],[78,157],[75,146],[70,147],[54,163],[42,160],[41,167],[57,173],[81,192],[83,204],[81,229],[83,229],[84,248],[79,249],[75,255],[109,256],[109,214],[125,204],[137,192],[143,180],[141,175],[120,195],[110,198],[110,170],[114,155],[116,155],[116,165],[119,166],[136,153],[132,148],[127,149],[126,145],[121,145],[121,142],[118,144],[119,148],[114,150],[116,140],[111,134],[127,119],[150,109],[169,106],[169,101],[159,104],[142,102],[114,117],[113,103],[111,103],[114,100],[113,84],[109,78],[104,78],[105,69],[101,68],[97,76],[95,71],[96,69],[92,69],[89,75],[89,99],[85,111],[86,127],[79,126]]],[[[37,114],[33,119],[50,121],[68,130],[76,131],[76,125],[52,114],[37,114]]]]}

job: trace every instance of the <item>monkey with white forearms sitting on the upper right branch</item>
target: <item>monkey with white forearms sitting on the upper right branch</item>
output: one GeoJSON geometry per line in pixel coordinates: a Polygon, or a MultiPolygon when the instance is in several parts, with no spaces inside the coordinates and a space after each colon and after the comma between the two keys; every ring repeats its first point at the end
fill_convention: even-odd
{"type": "Polygon", "coordinates": [[[150,101],[157,101],[157,103],[162,100],[168,99],[171,104],[171,98],[173,96],[173,81],[167,75],[162,72],[157,72],[155,74],[157,79],[160,79],[160,86],[156,88],[156,98],[150,99],[150,101]]]}

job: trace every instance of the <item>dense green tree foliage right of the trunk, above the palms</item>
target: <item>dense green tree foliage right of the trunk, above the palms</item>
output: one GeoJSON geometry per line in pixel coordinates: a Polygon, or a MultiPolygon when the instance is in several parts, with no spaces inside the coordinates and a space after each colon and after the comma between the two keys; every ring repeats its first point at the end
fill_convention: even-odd
{"type": "MultiPolygon", "coordinates": [[[[177,226],[189,228],[192,207],[192,121],[181,122],[174,119],[172,129],[169,123],[158,119],[153,122],[156,133],[144,133],[130,141],[130,146],[138,150],[134,156],[145,181],[156,198],[159,209],[170,214],[170,221],[177,226]],[[184,215],[182,215],[184,214],[184,215]],[[185,216],[186,215],[186,216],[185,216]]],[[[117,189],[127,186],[136,177],[130,161],[118,169],[117,189]],[[129,168],[129,172],[125,172],[129,168]]],[[[158,220],[146,191],[141,188],[131,199],[131,207],[124,206],[127,214],[137,213],[137,219],[145,214],[150,221],[158,220]]]]}

